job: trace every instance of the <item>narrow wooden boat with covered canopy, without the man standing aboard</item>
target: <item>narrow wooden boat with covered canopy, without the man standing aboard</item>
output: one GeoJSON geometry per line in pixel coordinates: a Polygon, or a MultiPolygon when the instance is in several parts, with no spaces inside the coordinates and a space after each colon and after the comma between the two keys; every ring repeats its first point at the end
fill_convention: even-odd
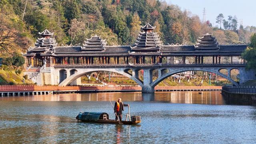
{"type": "MultiPolygon", "coordinates": [[[[99,122],[106,124],[120,124],[116,120],[109,120],[106,112],[80,112],[76,116],[77,121],[84,122],[99,122]]],[[[126,119],[127,120],[127,119],[126,119]]],[[[132,116],[131,121],[122,120],[122,124],[138,124],[140,123],[140,116],[132,116]]]]}

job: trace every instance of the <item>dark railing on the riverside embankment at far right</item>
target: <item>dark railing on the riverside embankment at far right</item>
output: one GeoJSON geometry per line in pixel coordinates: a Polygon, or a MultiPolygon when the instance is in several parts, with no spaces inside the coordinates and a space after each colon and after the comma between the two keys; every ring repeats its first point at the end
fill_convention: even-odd
{"type": "Polygon", "coordinates": [[[222,90],[237,94],[256,94],[256,86],[223,86],[222,90]]]}

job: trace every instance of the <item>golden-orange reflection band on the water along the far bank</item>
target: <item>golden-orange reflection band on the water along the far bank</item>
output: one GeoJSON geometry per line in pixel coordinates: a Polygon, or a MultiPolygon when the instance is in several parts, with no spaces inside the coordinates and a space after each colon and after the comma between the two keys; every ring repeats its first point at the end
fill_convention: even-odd
{"type": "Polygon", "coordinates": [[[48,94],[34,96],[0,97],[7,101],[164,101],[184,104],[225,104],[220,91],[216,92],[102,92],[82,94],[48,94]]]}

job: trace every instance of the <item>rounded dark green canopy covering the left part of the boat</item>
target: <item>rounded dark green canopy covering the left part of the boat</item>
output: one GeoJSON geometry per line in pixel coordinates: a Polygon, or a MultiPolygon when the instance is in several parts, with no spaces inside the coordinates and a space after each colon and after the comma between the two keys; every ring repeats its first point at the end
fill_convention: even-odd
{"type": "Polygon", "coordinates": [[[106,112],[80,112],[78,114],[78,118],[80,120],[87,120],[87,121],[98,121],[99,119],[103,119],[103,115],[107,115],[108,119],[108,114],[106,112]]]}

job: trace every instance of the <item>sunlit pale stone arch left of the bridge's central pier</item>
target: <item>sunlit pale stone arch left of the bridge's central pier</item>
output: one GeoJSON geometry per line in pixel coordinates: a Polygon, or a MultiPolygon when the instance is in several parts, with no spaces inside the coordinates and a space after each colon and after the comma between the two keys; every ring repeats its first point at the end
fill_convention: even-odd
{"type": "Polygon", "coordinates": [[[76,80],[77,78],[80,78],[81,76],[84,76],[91,72],[99,72],[99,71],[108,71],[108,72],[116,72],[118,74],[122,74],[136,82],[138,85],[143,86],[143,82],[136,78],[135,76],[128,74],[124,71],[124,69],[114,69],[114,68],[87,68],[87,69],[76,69],[77,72],[72,74],[71,76],[68,76],[65,80],[63,80],[59,86],[66,86],[76,80]]]}

